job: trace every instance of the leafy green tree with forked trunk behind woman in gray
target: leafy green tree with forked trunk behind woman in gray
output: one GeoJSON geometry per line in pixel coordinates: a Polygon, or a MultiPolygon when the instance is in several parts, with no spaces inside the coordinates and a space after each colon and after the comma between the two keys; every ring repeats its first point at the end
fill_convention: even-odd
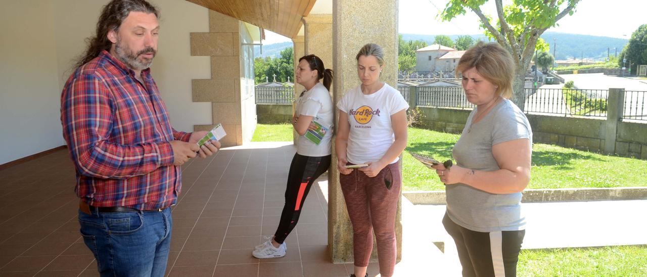
{"type": "MultiPolygon", "coordinates": [[[[523,84],[525,73],[537,49],[540,36],[566,15],[572,15],[580,0],[514,0],[512,5],[503,6],[502,0],[494,0],[496,21],[481,10],[488,0],[449,0],[440,16],[450,21],[471,10],[481,20],[485,34],[495,39],[512,54],[516,76],[512,84],[512,101],[523,110],[525,94],[523,84]]],[[[540,47],[548,44],[540,43],[540,47]]],[[[544,50],[544,49],[537,49],[544,50]]]]}

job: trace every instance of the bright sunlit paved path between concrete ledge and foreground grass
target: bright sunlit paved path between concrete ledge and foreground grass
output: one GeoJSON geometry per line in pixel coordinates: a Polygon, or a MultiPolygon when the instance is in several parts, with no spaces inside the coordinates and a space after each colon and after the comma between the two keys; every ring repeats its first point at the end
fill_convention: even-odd
{"type": "MultiPolygon", "coordinates": [[[[403,259],[396,269],[411,272],[406,269],[433,266],[434,272],[438,272],[435,276],[461,276],[454,241],[441,223],[445,205],[411,205],[406,198],[402,200],[404,228],[417,228],[404,230],[402,256],[417,257],[417,260],[403,259]],[[444,242],[444,254],[438,255],[437,249],[429,249],[428,245],[433,242],[444,242]]],[[[528,219],[523,249],[647,244],[647,221],[644,220],[647,200],[522,205],[528,219]]]]}

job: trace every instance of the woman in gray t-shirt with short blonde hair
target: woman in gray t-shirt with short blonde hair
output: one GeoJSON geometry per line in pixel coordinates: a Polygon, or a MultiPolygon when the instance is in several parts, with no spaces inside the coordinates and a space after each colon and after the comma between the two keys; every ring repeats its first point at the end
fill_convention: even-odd
{"type": "Polygon", "coordinates": [[[463,276],[516,276],[530,181],[532,130],[510,100],[514,63],[498,43],[467,50],[456,72],[476,105],[454,146],[456,165],[434,166],[446,186],[443,225],[454,238],[463,276]]]}

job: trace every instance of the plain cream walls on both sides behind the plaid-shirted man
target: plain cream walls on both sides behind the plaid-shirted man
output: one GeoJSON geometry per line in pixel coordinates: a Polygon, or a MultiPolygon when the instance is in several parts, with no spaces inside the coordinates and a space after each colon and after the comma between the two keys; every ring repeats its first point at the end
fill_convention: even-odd
{"type": "MultiPolygon", "coordinates": [[[[107,0],[3,1],[0,10],[0,164],[65,144],[60,95],[107,0]]],[[[151,73],[171,125],[212,124],[210,103],[192,102],[192,79],[210,78],[210,59],[190,55],[190,32],[208,32],[208,10],[151,0],[160,10],[159,52],[151,73]]]]}

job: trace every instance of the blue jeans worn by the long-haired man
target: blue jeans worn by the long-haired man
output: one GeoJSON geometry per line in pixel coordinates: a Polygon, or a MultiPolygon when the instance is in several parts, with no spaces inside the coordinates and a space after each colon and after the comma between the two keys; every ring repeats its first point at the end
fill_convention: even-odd
{"type": "Polygon", "coordinates": [[[171,208],[85,214],[81,235],[101,276],[164,276],[171,248],[171,208]]]}

